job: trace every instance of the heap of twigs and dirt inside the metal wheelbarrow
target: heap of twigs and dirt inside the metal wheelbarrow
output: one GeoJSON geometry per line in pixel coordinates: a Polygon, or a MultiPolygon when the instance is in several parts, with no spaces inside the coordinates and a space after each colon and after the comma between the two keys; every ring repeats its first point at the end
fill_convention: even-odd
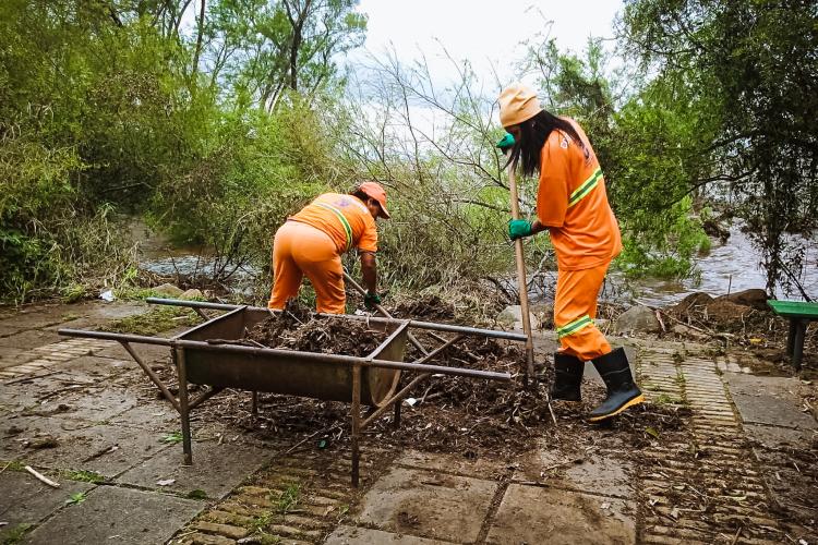
{"type": "Polygon", "coordinates": [[[313,316],[309,308],[290,303],[284,312],[256,324],[242,340],[267,348],[360,358],[372,353],[387,337],[365,320],[313,316]]]}

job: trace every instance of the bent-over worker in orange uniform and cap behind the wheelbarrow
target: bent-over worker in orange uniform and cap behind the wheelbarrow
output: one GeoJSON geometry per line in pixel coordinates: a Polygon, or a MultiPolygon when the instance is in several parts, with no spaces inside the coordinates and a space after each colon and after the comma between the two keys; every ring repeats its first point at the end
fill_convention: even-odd
{"type": "Polygon", "coordinates": [[[317,295],[317,311],[344,314],[344,267],[340,256],[356,247],[361,259],[364,303],[381,303],[377,294],[377,230],[375,219],[388,218],[386,192],[376,182],[364,182],[348,194],[316,197],[276,231],[273,242],[273,292],[267,306],[284,308],[298,295],[304,275],[317,295]]]}

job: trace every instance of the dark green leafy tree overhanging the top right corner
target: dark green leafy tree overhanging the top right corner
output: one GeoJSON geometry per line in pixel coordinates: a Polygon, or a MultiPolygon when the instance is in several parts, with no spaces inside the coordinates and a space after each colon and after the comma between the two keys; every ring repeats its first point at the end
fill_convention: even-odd
{"type": "Polygon", "coordinates": [[[701,165],[688,190],[725,185],[761,251],[767,290],[787,287],[805,250],[789,233],[808,240],[818,226],[815,2],[635,0],[619,29],[653,85],[682,89],[676,108],[715,129],[678,141],[701,165]]]}

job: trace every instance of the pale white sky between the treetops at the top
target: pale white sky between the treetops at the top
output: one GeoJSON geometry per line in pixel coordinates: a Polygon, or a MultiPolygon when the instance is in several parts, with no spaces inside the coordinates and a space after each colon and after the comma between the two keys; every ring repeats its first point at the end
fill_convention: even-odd
{"type": "MultiPolygon", "coordinates": [[[[361,0],[359,11],[369,15],[364,49],[372,55],[394,46],[398,58],[409,62],[423,52],[437,80],[450,70],[443,46],[452,57],[468,59],[485,80],[493,78],[493,64],[507,83],[514,76],[512,61],[525,53],[522,40],[540,33],[555,38],[563,51],[581,52],[590,36],[613,37],[612,23],[622,8],[622,0],[361,0]]],[[[359,62],[364,55],[357,51],[348,61],[359,62]]]]}

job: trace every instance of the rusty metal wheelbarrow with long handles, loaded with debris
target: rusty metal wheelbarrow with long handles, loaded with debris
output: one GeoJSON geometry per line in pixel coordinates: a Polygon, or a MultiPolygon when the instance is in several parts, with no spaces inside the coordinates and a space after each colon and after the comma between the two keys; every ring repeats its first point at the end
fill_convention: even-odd
{"type": "MultiPolygon", "coordinates": [[[[190,411],[225,388],[237,388],[253,392],[252,410],[256,411],[258,391],[302,396],[321,400],[344,401],[351,403],[351,453],[352,486],[359,484],[360,439],[361,431],[380,417],[389,407],[394,408],[395,426],[400,425],[400,403],[410,390],[432,374],[465,376],[491,380],[509,380],[508,373],[467,370],[430,365],[426,362],[459,341],[465,335],[479,335],[525,342],[522,335],[452,326],[416,320],[377,318],[351,315],[318,315],[333,319],[365,319],[370,328],[380,329],[388,337],[372,353],[364,358],[302,352],[272,348],[256,348],[231,344],[243,337],[245,329],[279,311],[263,307],[237,306],[199,301],[169,299],[148,299],[149,303],[187,306],[196,311],[207,320],[188,331],[170,339],[146,337],[105,331],[80,329],[60,329],[59,334],[69,337],[85,337],[117,341],[142,367],[148,378],[173,405],[181,417],[182,447],[184,463],[192,464],[190,411]],[[210,318],[203,308],[228,311],[226,314],[210,318]],[[434,350],[425,351],[419,360],[404,362],[407,339],[410,328],[456,334],[452,339],[441,339],[442,344],[434,350]],[[214,342],[217,340],[217,342],[214,342]],[[209,342],[208,342],[209,341],[209,342]],[[167,346],[177,371],[179,397],[173,396],[156,373],[142,361],[132,343],[167,346]],[[401,372],[417,373],[399,391],[398,383],[401,372]],[[189,385],[204,385],[208,388],[196,398],[191,399],[189,385]],[[361,405],[369,405],[366,415],[361,414],[361,405]]],[[[412,338],[413,342],[417,342],[412,338]]]]}

